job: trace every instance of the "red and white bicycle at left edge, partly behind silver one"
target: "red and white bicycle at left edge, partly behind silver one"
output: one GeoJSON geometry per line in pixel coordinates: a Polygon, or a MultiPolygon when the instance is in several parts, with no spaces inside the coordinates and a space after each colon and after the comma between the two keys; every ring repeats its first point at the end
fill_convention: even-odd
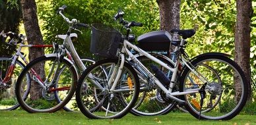
{"type": "MultiPolygon", "coordinates": [[[[0,91],[1,101],[0,110],[15,110],[19,107],[15,97],[15,83],[18,78],[18,74],[24,69],[25,65],[28,64],[24,53],[21,52],[23,47],[52,47],[52,45],[24,45],[25,36],[22,34],[18,35],[13,32],[7,34],[4,31],[0,34],[3,37],[2,42],[5,43],[5,39],[10,37],[9,42],[5,43],[7,49],[16,51],[11,57],[0,57],[0,91]],[[18,49],[16,46],[18,45],[18,49]],[[18,60],[22,59],[24,63],[18,60]]],[[[30,81],[30,76],[26,75],[26,80],[30,81]]]]}

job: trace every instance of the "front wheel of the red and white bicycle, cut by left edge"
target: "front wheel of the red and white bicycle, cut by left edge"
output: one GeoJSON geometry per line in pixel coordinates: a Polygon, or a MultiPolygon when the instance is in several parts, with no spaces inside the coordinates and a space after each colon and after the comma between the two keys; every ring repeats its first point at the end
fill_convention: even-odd
{"type": "MultiPolygon", "coordinates": [[[[4,80],[7,74],[7,70],[11,65],[13,59],[11,57],[0,57],[0,111],[15,110],[20,105],[16,100],[15,84],[21,70],[24,69],[24,64],[16,60],[13,74],[8,80],[4,80]]],[[[30,76],[26,74],[25,78],[27,83],[30,81],[30,76]]]]}

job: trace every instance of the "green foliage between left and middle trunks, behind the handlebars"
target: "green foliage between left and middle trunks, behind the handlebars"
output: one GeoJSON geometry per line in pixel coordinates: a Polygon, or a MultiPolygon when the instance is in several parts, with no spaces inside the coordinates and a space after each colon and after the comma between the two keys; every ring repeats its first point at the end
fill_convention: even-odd
{"type": "MultiPolygon", "coordinates": [[[[38,16],[44,20],[43,30],[46,43],[55,41],[62,43],[59,39],[55,39],[57,34],[65,34],[67,32],[67,24],[57,15],[57,9],[62,5],[67,5],[64,14],[69,19],[77,18],[85,24],[108,24],[115,26],[113,16],[119,9],[125,12],[125,20],[135,20],[144,24],[143,28],[134,28],[133,34],[139,36],[144,32],[159,29],[158,7],[153,1],[110,1],[110,0],[75,0],[75,1],[46,1],[38,2],[38,16]],[[141,11],[143,10],[143,11],[141,11]]],[[[79,34],[75,48],[80,57],[90,56],[90,29],[80,29],[83,34],[79,34]]]]}

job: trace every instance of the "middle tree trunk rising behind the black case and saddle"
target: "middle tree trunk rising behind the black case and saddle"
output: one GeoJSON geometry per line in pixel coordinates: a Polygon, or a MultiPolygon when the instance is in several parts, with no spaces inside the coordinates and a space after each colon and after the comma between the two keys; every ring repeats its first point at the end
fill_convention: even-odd
{"type": "MultiPolygon", "coordinates": [[[[179,11],[180,0],[156,0],[160,13],[160,30],[166,30],[170,33],[172,29],[179,29],[179,11]]],[[[173,39],[178,39],[173,36],[173,39]]],[[[170,47],[170,52],[174,51],[174,47],[170,47]]]]}

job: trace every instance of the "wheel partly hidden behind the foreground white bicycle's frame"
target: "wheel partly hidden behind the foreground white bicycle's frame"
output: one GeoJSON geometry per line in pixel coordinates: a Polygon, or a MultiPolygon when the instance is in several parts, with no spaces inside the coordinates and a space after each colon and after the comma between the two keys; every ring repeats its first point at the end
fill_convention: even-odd
{"type": "MultiPolygon", "coordinates": [[[[169,66],[174,67],[174,64],[170,62],[170,60],[165,59],[162,55],[153,53],[152,56],[168,64],[169,66]]],[[[172,74],[170,74],[169,70],[160,66],[159,64],[150,61],[150,59],[147,57],[140,56],[137,57],[137,59],[139,59],[139,61],[141,61],[141,63],[143,63],[143,65],[146,66],[149,70],[152,71],[150,65],[154,64],[155,66],[158,66],[162,72],[165,72],[166,76],[172,78],[172,74]]],[[[137,66],[134,67],[135,69],[138,68],[137,66]]],[[[131,109],[131,113],[138,116],[155,116],[160,114],[167,114],[168,112],[172,111],[176,106],[176,103],[170,99],[167,99],[163,91],[157,88],[154,83],[150,82],[147,76],[144,76],[143,73],[139,71],[139,69],[136,71],[139,75],[141,91],[139,93],[139,98],[135,104],[135,107],[131,109]]],[[[168,88],[168,86],[166,86],[166,88],[168,88]]],[[[174,89],[174,91],[177,91],[179,88],[176,87],[174,89]]]]}

